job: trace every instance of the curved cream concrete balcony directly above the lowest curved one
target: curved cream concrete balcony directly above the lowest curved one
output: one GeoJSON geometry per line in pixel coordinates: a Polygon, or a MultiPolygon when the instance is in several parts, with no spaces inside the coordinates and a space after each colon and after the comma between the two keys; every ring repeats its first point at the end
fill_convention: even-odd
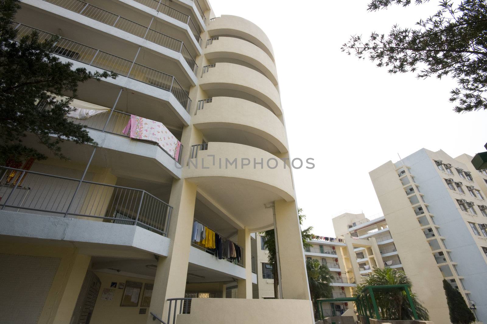
{"type": "Polygon", "coordinates": [[[229,141],[269,153],[287,152],[284,125],[268,109],[240,98],[214,97],[198,102],[193,125],[208,141],[229,141]]]}

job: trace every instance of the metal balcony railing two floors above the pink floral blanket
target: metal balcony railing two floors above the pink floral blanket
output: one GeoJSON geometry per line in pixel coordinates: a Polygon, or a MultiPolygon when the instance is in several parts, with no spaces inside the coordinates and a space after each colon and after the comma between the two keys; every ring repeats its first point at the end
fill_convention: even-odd
{"type": "Polygon", "coordinates": [[[187,50],[186,45],[179,39],[170,37],[166,34],[156,32],[149,27],[138,24],[127,18],[115,15],[107,10],[95,7],[92,4],[81,0],[44,0],[59,7],[71,10],[77,14],[92,18],[104,24],[120,29],[129,34],[144,38],[152,43],[163,46],[173,51],[181,53],[191,70],[196,74],[198,66],[196,61],[187,50]]]}

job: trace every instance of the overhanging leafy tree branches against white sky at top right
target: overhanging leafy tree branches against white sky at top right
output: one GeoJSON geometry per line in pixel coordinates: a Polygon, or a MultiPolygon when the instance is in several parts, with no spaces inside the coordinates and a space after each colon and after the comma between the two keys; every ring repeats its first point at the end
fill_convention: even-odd
{"type": "MultiPolygon", "coordinates": [[[[422,4],[429,0],[415,0],[422,4]]],[[[411,0],[372,0],[368,11],[411,0]]],[[[449,75],[458,82],[450,102],[458,113],[487,109],[487,2],[441,0],[436,13],[416,22],[416,28],[392,27],[389,34],[352,36],[342,51],[368,57],[389,73],[417,72],[424,79],[449,75]]]]}

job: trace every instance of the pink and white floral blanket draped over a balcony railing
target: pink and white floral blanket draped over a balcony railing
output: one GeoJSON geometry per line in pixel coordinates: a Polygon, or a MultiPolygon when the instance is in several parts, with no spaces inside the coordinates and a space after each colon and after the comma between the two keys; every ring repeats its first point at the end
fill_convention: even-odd
{"type": "Polygon", "coordinates": [[[179,150],[181,142],[169,132],[163,123],[147,118],[130,115],[130,120],[122,131],[131,138],[144,139],[156,142],[162,147],[176,162],[179,162],[179,150]]]}

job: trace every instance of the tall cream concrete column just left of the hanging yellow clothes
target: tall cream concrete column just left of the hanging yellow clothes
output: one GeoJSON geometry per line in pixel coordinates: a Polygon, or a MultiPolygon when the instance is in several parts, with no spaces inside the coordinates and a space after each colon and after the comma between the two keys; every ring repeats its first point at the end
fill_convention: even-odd
{"type": "MultiPolygon", "coordinates": [[[[173,207],[168,231],[169,256],[160,257],[157,263],[149,308],[154,314],[162,314],[162,319],[168,316],[166,300],[184,297],[195,201],[195,184],[184,179],[173,181],[169,198],[169,205],[173,207]]],[[[153,323],[151,316],[147,323],[153,323]]]]}

